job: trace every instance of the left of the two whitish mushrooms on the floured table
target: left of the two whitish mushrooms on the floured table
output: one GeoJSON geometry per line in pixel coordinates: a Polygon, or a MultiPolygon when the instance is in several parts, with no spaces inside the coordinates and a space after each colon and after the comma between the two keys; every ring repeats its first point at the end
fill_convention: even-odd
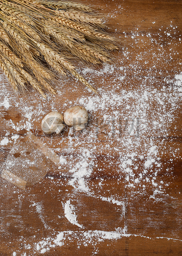
{"type": "Polygon", "coordinates": [[[64,128],[63,116],[57,111],[52,111],[44,116],[41,123],[41,128],[44,133],[60,133],[64,128]]]}

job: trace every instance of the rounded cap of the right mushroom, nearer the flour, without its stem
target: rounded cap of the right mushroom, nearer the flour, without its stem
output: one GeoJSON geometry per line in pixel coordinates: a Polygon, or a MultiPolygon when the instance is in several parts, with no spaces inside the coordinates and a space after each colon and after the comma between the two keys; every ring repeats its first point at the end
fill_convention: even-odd
{"type": "Polygon", "coordinates": [[[88,113],[84,107],[74,106],[65,111],[64,122],[68,126],[74,126],[76,124],[82,124],[88,122],[88,113]]]}

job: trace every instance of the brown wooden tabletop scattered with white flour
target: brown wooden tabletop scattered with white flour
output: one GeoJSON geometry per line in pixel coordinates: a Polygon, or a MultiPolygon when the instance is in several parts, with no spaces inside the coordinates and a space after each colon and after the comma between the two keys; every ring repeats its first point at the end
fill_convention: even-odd
{"type": "Polygon", "coordinates": [[[1,163],[27,131],[62,159],[25,191],[1,178],[0,255],[182,255],[182,2],[85,2],[123,40],[115,64],[78,65],[99,96],[67,78],[55,97],[20,97],[0,71],[1,163]],[[42,133],[78,104],[85,130],[42,133]]]}

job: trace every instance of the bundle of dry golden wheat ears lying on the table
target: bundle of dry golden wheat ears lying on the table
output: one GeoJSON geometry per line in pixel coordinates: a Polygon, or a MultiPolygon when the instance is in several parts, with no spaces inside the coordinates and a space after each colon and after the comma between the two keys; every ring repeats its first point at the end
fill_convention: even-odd
{"type": "Polygon", "coordinates": [[[70,73],[97,93],[72,62],[111,60],[117,45],[104,28],[97,12],[77,2],[0,0],[0,67],[21,92],[29,84],[43,97],[55,94],[58,76],[70,73]]]}

